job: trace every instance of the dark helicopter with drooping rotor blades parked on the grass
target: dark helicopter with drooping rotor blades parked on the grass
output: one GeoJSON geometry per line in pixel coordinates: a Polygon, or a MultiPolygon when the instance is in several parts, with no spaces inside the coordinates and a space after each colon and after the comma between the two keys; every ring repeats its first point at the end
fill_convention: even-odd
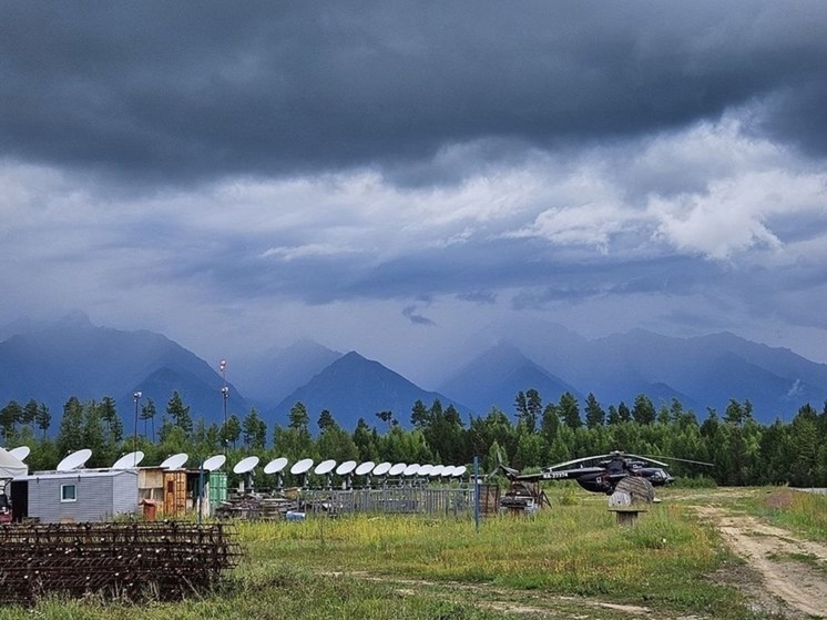
{"type": "MultiPolygon", "coordinates": [[[[708,465],[700,460],[690,460],[675,457],[658,457],[667,460],[692,463],[696,465],[708,465]]],[[[537,474],[520,474],[517,469],[500,463],[500,469],[513,484],[515,481],[540,481],[540,480],[575,480],[581,487],[591,492],[612,495],[617,482],[629,476],[636,476],[647,480],[653,487],[662,487],[675,481],[675,478],[664,469],[668,464],[655,460],[651,457],[626,454],[614,450],[608,455],[595,455],[583,458],[566,460],[543,467],[537,474]],[[585,464],[594,465],[586,466],[585,464]],[[572,467],[576,466],[576,467],[572,467]]]]}

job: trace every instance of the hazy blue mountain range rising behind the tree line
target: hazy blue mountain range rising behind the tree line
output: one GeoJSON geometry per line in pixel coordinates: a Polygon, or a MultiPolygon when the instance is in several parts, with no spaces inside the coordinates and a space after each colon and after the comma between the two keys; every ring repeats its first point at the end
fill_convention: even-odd
{"type": "MultiPolygon", "coordinates": [[[[44,403],[53,428],[71,396],[82,402],[111,396],[131,420],[135,392],[142,393],[141,404],[152,398],[163,413],[177,390],[193,417],[223,419],[225,382],[218,369],[166,336],[95,326],[81,314],[20,332],[0,342],[0,404],[44,403]]],[[[312,420],[328,409],[348,429],[360,417],[376,424],[376,414],[385,410],[408,426],[417,399],[429,406],[439,398],[467,419],[491,407],[511,414],[517,393],[534,388],[545,403],[570,392],[582,405],[593,393],[604,408],[620,402],[631,407],[639,394],[656,405],[677,398],[702,418],[707,407],[723,411],[732,398],[748,399],[754,416],[770,423],[790,419],[805,403],[820,408],[827,397],[827,365],[731,333],[677,338],[637,329],[590,341],[537,323],[511,333],[492,327],[457,358],[462,362],[430,390],[357,352],[341,354],[304,339],[234,359],[227,410],[243,416],[256,407],[270,424],[285,425],[302,402],[312,420]]]]}

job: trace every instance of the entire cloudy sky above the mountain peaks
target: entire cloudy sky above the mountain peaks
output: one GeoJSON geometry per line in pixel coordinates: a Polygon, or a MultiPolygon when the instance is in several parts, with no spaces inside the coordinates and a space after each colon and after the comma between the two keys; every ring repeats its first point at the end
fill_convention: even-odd
{"type": "Polygon", "coordinates": [[[436,380],[496,325],[827,363],[827,3],[0,0],[0,325],[436,380]],[[21,323],[22,322],[22,323],[21,323]]]}

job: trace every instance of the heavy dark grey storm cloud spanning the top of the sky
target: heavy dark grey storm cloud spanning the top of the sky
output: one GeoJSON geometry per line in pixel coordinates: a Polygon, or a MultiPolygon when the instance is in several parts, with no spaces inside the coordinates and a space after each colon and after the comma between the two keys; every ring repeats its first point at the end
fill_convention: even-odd
{"type": "Polygon", "coordinates": [[[423,184],[452,144],[545,149],[751,104],[753,131],[824,155],[826,18],[821,2],[2,2],[0,150],[144,181],[372,165],[423,184]]]}

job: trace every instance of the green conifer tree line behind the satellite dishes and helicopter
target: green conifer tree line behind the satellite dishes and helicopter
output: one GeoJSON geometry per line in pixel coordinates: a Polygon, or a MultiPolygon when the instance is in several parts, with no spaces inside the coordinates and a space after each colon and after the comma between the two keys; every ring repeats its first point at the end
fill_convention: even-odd
{"type": "Polygon", "coordinates": [[[631,406],[621,402],[604,408],[589,394],[581,407],[571,393],[544,403],[538,390],[528,389],[517,394],[512,415],[492,407],[466,423],[452,405],[443,407],[437,399],[430,405],[417,400],[408,416],[410,424],[405,425],[394,411],[377,411],[375,419],[360,418],[349,431],[329,410],[321,410],[314,428],[310,411],[296,403],[284,425],[268,424],[255,408],[241,417],[231,414],[226,423],[207,424],[195,418],[174,392],[160,416],[155,403],[147,399],[129,428],[111,397],[85,403],[71,397],[53,437],[45,405],[11,400],[0,409],[0,436],[6,447],[31,448],[27,459],[31,470],[52,469],[80,448],[92,450],[88,467],[110,466],[121,455],[140,449],[146,455],[145,465],[176,453],[187,453],[190,465],[219,451],[231,463],[257,455],[265,463],[285,456],[292,463],[309,457],[468,465],[478,456],[483,472],[493,471],[500,461],[530,471],[623,450],[712,463],[711,468],[676,463],[671,471],[718,485],[827,486],[827,403],[820,411],[802,405],[789,423],[762,424],[753,417],[749,400],[732,399],[724,411],[707,409],[700,420],[676,398],[656,406],[641,394],[631,406]]]}

